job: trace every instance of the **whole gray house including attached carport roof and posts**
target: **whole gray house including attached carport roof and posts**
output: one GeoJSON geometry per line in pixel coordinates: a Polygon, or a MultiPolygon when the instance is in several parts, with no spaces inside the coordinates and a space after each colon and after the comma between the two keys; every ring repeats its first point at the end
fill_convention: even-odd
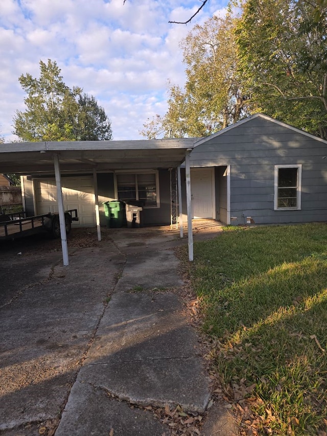
{"type": "MultiPolygon", "coordinates": [[[[327,141],[257,113],[206,138],[3,144],[0,172],[22,177],[28,215],[64,209],[106,225],[104,202],[141,201],[145,225],[325,221],[327,141]],[[181,207],[179,207],[181,205],[181,207]]],[[[182,229],[181,229],[182,236],[182,229]]]]}

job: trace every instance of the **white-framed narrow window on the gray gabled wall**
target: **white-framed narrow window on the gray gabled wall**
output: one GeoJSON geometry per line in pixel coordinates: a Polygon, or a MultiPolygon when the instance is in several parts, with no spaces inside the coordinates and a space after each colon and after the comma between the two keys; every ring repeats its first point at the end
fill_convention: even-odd
{"type": "Polygon", "coordinates": [[[301,165],[275,166],[274,209],[301,209],[301,165]]]}

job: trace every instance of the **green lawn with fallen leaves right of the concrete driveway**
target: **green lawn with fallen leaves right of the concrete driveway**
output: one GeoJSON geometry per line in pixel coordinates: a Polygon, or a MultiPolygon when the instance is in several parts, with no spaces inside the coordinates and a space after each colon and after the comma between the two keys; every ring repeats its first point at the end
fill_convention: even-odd
{"type": "Polygon", "coordinates": [[[223,385],[254,387],[260,434],[325,434],[327,225],[228,227],[194,254],[223,385]]]}

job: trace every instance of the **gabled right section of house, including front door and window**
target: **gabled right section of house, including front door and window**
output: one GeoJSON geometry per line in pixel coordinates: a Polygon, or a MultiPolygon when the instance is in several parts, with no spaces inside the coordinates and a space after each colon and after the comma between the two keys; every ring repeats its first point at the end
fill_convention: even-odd
{"type": "Polygon", "coordinates": [[[193,217],[227,224],[326,221],[326,157],[327,141],[256,113],[195,142],[193,217]]]}

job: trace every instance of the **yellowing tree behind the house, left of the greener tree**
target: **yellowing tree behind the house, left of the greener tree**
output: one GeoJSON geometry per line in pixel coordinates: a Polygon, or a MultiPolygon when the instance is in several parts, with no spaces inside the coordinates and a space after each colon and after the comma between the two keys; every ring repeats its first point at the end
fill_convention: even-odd
{"type": "Polygon", "coordinates": [[[186,64],[184,89],[169,90],[164,117],[147,120],[141,132],[153,137],[207,136],[237,122],[249,113],[239,76],[235,19],[212,17],[196,25],[181,43],[186,64]]]}

